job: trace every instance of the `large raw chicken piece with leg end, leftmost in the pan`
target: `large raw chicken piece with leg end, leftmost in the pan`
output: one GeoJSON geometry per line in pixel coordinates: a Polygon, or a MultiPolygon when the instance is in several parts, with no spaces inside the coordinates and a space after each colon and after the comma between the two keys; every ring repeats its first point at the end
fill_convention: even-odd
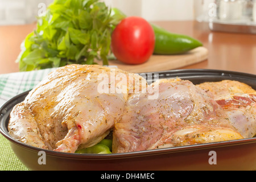
{"type": "Polygon", "coordinates": [[[31,146],[60,152],[93,146],[112,130],[139,82],[139,75],[100,65],[57,68],[14,107],[9,132],[31,146]]]}

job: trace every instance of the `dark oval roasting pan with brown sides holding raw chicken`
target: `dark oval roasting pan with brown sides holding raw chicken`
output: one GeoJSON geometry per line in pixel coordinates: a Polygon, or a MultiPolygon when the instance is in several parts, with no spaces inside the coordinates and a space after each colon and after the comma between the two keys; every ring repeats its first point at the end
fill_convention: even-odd
{"type": "MultiPolygon", "coordinates": [[[[205,81],[237,80],[256,89],[256,75],[212,69],[177,69],[146,74],[152,78],[205,81]]],[[[31,170],[256,170],[256,138],[195,144],[123,154],[67,154],[42,150],[13,139],[7,130],[9,114],[29,91],[11,98],[0,109],[0,133],[10,141],[18,159],[31,170]],[[39,163],[43,152],[46,164],[39,163]],[[213,159],[215,161],[213,161],[213,159]]]]}

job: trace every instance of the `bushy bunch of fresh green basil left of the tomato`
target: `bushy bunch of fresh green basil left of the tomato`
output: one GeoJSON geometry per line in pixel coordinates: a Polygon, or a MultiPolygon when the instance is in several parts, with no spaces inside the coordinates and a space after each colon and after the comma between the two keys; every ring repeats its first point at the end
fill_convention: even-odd
{"type": "Polygon", "coordinates": [[[108,65],[111,34],[122,18],[98,0],[55,0],[24,39],[19,70],[95,64],[95,59],[108,65]]]}

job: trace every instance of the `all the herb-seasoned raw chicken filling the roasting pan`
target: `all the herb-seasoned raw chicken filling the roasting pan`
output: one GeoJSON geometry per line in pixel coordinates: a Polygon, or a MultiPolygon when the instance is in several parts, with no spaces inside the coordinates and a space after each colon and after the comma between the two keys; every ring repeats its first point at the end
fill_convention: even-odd
{"type": "Polygon", "coordinates": [[[31,146],[75,152],[113,130],[113,153],[218,142],[256,133],[256,91],[237,81],[193,85],[100,65],[67,65],[10,113],[9,133],[31,146]]]}

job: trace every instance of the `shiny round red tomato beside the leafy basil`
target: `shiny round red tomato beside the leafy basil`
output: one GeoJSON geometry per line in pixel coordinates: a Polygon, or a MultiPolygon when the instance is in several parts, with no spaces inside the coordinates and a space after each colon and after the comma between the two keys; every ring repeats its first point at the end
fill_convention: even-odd
{"type": "Polygon", "coordinates": [[[154,47],[154,30],[141,17],[129,16],[123,19],[112,33],[112,52],[123,63],[144,63],[152,55],[154,47]]]}

